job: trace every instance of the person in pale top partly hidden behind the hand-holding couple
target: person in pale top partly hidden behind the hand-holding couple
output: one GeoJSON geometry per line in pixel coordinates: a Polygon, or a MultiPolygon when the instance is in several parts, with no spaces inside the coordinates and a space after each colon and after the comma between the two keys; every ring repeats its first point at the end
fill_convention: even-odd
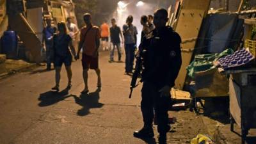
{"type": "Polygon", "coordinates": [[[72,22],[71,17],[67,18],[67,28],[68,28],[68,34],[72,38],[72,44],[74,47],[77,47],[77,35],[79,33],[79,29],[77,28],[76,24],[72,22]]]}

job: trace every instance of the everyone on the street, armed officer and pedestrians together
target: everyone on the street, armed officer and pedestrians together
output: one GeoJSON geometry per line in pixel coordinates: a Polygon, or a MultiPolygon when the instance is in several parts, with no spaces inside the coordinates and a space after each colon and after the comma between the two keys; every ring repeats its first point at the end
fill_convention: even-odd
{"type": "MultiPolygon", "coordinates": [[[[82,52],[82,67],[84,89],[81,92],[86,94],[88,90],[88,70],[95,70],[97,74],[97,86],[101,86],[99,68],[99,47],[100,39],[102,50],[108,51],[109,63],[114,61],[115,48],[118,51],[118,61],[122,59],[121,44],[125,49],[125,74],[132,75],[134,68],[134,58],[136,48],[137,53],[143,58],[143,70],[141,73],[141,112],[143,115],[143,128],[134,132],[136,138],[152,138],[154,131],[152,122],[156,117],[159,132],[159,143],[166,143],[166,132],[170,130],[168,124],[168,108],[170,106],[170,90],[174,86],[175,79],[179,73],[181,65],[180,36],[175,33],[170,26],[166,26],[168,13],[164,9],[159,9],[152,15],[141,16],[140,46],[137,45],[138,30],[132,24],[133,17],[129,15],[122,30],[116,25],[116,20],[111,19],[111,28],[105,21],[100,28],[92,24],[92,15],[85,13],[83,16],[86,26],[80,29],[80,41],[77,52],[74,44],[79,29],[72,19],[59,22],[57,28],[52,26],[51,19],[47,19],[47,26],[43,31],[43,45],[46,47],[47,70],[51,70],[53,61],[56,70],[56,85],[52,90],[59,91],[61,66],[65,65],[67,70],[67,89],[71,88],[72,80],[72,55],[75,60],[79,60],[82,52]],[[58,31],[58,33],[57,33],[58,31]],[[109,47],[108,41],[113,47],[109,47]]],[[[137,55],[136,54],[136,55],[137,55]]]]}

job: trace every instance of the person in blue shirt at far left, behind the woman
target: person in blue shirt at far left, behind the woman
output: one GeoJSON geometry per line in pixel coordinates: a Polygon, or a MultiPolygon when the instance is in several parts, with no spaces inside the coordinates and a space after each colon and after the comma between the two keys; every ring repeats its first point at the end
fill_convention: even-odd
{"type": "Polygon", "coordinates": [[[57,28],[52,26],[52,20],[46,19],[45,28],[43,29],[43,38],[42,38],[42,46],[45,47],[46,51],[46,63],[47,63],[47,70],[51,70],[51,63],[52,63],[52,38],[54,33],[56,33],[57,28]]]}

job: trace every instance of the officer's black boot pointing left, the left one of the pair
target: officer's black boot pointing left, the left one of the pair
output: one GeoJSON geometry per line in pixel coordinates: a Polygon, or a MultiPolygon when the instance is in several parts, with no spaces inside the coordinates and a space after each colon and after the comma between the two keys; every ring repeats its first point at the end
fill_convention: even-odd
{"type": "Polygon", "coordinates": [[[136,138],[152,138],[154,131],[152,125],[144,126],[140,131],[134,131],[133,136],[136,138]]]}

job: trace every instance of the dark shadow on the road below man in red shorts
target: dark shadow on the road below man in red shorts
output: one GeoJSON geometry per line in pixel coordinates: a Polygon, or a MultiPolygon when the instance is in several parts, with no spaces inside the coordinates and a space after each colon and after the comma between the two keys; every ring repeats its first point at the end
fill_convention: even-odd
{"type": "Polygon", "coordinates": [[[97,88],[95,92],[88,94],[81,94],[80,97],[73,95],[76,103],[82,106],[83,108],[77,111],[77,115],[86,116],[90,113],[92,108],[102,108],[104,104],[99,103],[100,99],[100,88],[97,88]]]}

